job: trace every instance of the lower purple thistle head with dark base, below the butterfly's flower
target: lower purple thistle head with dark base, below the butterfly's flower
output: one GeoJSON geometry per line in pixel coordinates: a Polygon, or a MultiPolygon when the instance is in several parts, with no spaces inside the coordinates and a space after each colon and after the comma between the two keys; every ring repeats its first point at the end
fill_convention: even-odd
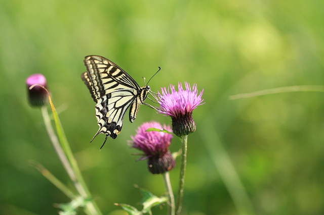
{"type": "Polygon", "coordinates": [[[132,147],[144,152],[141,159],[148,159],[148,170],[153,174],[161,174],[170,171],[175,166],[175,160],[169,150],[172,134],[159,131],[146,131],[149,128],[157,128],[171,132],[170,126],[161,126],[157,122],[143,123],[138,127],[135,136],[129,141],[132,147]]]}

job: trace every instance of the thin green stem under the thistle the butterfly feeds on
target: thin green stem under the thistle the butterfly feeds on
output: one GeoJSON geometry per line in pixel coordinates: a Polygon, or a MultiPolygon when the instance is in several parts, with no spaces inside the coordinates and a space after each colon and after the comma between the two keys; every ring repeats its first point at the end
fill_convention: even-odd
{"type": "Polygon", "coordinates": [[[176,201],[176,214],[180,214],[181,208],[182,208],[184,178],[185,178],[186,165],[187,165],[187,139],[188,139],[188,135],[182,136],[182,138],[181,138],[182,154],[181,154],[181,164],[180,164],[178,196],[177,196],[177,201],[176,201]]]}

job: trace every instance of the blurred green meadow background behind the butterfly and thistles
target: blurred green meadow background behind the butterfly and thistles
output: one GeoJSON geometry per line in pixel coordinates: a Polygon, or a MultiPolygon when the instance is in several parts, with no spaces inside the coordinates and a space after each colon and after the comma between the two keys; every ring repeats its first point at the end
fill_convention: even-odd
{"type": "MultiPolygon", "coordinates": [[[[170,123],[147,106],[115,140],[98,130],[80,79],[101,55],[153,91],[178,81],[204,88],[188,138],[183,214],[323,214],[324,94],[228,96],[291,85],[323,85],[324,3],[287,1],[1,1],[0,213],[57,214],[68,202],[29,160],[72,187],[25,79],[43,73],[89,189],[104,214],[140,208],[134,184],[164,194],[163,180],[127,145],[143,122],[170,123]],[[238,178],[239,180],[237,180],[238,178]],[[241,188],[244,188],[242,191],[241,188]]],[[[128,115],[128,114],[127,114],[128,115]]],[[[174,138],[171,149],[178,150],[174,138]]],[[[177,160],[179,163],[179,160],[177,160]]],[[[171,171],[177,189],[179,165],[171,171]]],[[[82,213],[82,211],[80,211],[82,213]]],[[[153,214],[166,214],[157,207],[153,214]]]]}

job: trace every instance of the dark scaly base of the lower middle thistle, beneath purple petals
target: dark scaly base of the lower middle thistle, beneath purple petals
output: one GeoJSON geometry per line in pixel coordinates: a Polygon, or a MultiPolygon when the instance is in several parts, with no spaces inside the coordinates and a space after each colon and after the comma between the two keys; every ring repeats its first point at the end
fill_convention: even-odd
{"type": "Polygon", "coordinates": [[[176,162],[170,151],[161,157],[149,157],[147,161],[148,170],[153,174],[163,174],[174,168],[176,162]]]}

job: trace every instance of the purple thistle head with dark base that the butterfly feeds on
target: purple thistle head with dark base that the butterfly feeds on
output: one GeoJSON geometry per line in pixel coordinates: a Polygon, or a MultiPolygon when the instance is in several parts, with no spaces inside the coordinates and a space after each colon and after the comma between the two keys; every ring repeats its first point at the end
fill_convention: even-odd
{"type": "Polygon", "coordinates": [[[188,135],[196,130],[196,125],[192,119],[192,112],[204,99],[201,99],[204,89],[197,93],[197,85],[185,82],[186,89],[182,88],[182,84],[178,83],[178,91],[175,86],[161,88],[161,94],[157,92],[157,101],[160,104],[158,113],[171,116],[172,130],[177,136],[188,135]],[[170,93],[171,89],[171,93],[170,93]]]}

